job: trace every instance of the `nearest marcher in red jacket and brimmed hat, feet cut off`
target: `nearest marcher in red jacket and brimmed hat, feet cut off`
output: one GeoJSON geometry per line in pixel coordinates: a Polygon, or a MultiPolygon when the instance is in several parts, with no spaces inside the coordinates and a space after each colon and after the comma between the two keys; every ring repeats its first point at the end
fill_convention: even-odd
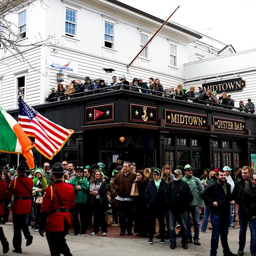
{"type": "Polygon", "coordinates": [[[46,237],[51,255],[72,256],[65,236],[72,227],[71,214],[75,205],[75,193],[72,185],[62,181],[63,167],[61,163],[52,166],[54,184],[45,189],[41,205],[39,233],[46,237]]]}

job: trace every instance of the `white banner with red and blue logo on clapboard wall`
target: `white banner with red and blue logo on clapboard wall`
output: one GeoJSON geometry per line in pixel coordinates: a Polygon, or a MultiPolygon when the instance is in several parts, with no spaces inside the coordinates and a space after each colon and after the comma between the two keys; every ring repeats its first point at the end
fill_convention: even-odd
{"type": "Polygon", "coordinates": [[[62,70],[63,72],[78,74],[78,63],[70,59],[62,59],[53,56],[46,58],[46,67],[62,70]]]}

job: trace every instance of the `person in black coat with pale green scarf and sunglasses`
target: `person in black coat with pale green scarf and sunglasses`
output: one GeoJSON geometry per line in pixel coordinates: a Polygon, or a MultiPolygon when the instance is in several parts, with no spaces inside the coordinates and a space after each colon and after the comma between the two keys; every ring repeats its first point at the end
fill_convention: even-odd
{"type": "Polygon", "coordinates": [[[158,218],[161,244],[164,244],[165,237],[165,202],[164,191],[166,188],[166,182],[160,178],[160,169],[154,168],[153,180],[147,184],[145,191],[145,198],[147,200],[147,216],[148,216],[148,244],[153,244],[153,237],[155,233],[156,218],[158,218]]]}

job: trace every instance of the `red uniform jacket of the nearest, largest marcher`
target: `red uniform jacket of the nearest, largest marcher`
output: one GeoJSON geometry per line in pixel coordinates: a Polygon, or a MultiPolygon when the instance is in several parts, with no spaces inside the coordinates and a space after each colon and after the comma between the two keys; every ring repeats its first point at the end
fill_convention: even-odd
{"type": "MultiPolygon", "coordinates": [[[[57,181],[54,183],[63,208],[71,209],[75,205],[75,192],[72,185],[57,181]]],[[[44,198],[42,199],[41,212],[48,212],[46,230],[48,232],[64,231],[67,227],[72,227],[70,212],[51,212],[52,210],[60,209],[60,203],[54,189],[49,186],[45,189],[44,198]],[[68,224],[65,225],[65,222],[68,224]]]]}

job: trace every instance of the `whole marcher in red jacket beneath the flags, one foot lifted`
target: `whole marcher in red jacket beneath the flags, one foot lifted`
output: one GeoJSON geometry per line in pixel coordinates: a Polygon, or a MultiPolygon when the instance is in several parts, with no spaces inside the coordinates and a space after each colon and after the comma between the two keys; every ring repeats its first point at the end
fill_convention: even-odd
{"type": "Polygon", "coordinates": [[[31,211],[31,195],[33,181],[26,177],[26,167],[20,164],[17,167],[17,178],[11,181],[7,198],[11,201],[14,195],[14,204],[12,206],[12,222],[13,222],[13,252],[22,253],[22,231],[27,239],[26,246],[32,244],[33,237],[29,232],[26,223],[26,216],[31,211]]]}

